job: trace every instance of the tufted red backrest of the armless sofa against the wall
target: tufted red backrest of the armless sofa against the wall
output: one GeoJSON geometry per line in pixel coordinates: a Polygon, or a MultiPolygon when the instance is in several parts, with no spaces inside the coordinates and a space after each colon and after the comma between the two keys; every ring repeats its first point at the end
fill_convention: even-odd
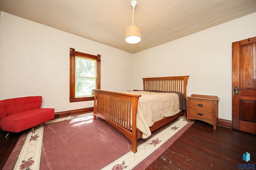
{"type": "Polygon", "coordinates": [[[28,96],[0,101],[0,119],[13,113],[38,109],[41,106],[42,96],[28,96]]]}

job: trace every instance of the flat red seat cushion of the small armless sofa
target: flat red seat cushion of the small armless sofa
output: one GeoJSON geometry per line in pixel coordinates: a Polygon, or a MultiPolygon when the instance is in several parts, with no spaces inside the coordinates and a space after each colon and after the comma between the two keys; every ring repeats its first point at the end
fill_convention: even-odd
{"type": "Polygon", "coordinates": [[[3,131],[20,132],[54,118],[54,109],[39,108],[13,113],[4,117],[1,122],[3,131]]]}

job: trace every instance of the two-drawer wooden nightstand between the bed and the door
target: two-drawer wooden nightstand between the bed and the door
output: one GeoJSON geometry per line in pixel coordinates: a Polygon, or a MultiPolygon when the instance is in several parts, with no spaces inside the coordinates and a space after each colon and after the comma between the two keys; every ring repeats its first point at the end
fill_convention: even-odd
{"type": "Polygon", "coordinates": [[[192,94],[187,96],[187,121],[197,119],[217,128],[218,121],[218,96],[192,94]]]}

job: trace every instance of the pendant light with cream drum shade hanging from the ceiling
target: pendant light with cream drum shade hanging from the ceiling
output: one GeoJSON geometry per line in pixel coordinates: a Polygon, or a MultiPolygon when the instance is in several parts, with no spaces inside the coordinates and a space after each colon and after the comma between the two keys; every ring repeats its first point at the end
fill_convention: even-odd
{"type": "Polygon", "coordinates": [[[125,41],[130,44],[139,43],[141,40],[140,27],[134,25],[134,8],[137,5],[137,1],[133,0],[132,5],[132,25],[126,28],[125,41]]]}

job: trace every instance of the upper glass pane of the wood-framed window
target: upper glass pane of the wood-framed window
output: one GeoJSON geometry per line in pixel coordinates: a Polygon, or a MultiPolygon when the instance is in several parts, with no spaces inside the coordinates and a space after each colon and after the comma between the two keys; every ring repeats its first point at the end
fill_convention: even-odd
{"type": "Polygon", "coordinates": [[[95,77],[95,61],[76,57],[76,76],[95,77]]]}

